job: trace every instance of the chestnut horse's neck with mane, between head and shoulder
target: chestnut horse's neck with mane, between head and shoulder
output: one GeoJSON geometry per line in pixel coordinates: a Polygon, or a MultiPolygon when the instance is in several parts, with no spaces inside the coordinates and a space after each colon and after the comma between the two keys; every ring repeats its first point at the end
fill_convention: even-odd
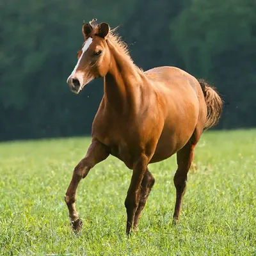
{"type": "Polygon", "coordinates": [[[104,77],[104,99],[116,113],[134,112],[139,104],[141,74],[124,52],[109,42],[111,61],[108,74],[104,77]]]}

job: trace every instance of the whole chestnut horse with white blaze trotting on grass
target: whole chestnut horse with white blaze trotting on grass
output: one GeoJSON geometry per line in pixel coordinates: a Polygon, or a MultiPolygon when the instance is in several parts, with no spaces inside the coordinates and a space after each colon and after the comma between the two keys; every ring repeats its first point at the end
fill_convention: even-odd
{"type": "Polygon", "coordinates": [[[218,122],[221,98],[205,81],[179,68],[157,67],[143,72],[107,23],[98,25],[94,19],[83,24],[82,32],[84,44],[67,83],[77,94],[92,79],[104,77],[104,96],[93,120],[92,143],[74,169],[65,196],[72,228],[79,231],[83,224],[75,206],[77,186],[109,154],[132,170],[125,199],[129,234],[132,225],[136,230],[155,182],[148,164],[177,152],[173,214],[173,223],[177,223],[193,150],[204,129],[218,122]]]}

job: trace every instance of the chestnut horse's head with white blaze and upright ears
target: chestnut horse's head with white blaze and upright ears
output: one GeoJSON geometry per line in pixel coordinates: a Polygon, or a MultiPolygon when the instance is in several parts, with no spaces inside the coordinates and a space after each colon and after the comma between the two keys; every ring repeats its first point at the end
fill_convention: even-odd
{"type": "Polygon", "coordinates": [[[84,43],[82,49],[77,52],[77,64],[67,79],[70,90],[79,93],[92,79],[104,77],[108,72],[110,54],[106,38],[109,34],[107,23],[95,24],[92,22],[83,24],[82,32],[84,43]]]}

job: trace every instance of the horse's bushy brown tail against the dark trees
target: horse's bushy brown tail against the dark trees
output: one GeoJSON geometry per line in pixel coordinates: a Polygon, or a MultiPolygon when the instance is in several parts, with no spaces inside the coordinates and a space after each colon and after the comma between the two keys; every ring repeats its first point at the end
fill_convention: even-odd
{"type": "Polygon", "coordinates": [[[210,86],[204,79],[199,79],[198,82],[204,92],[207,106],[207,117],[204,125],[204,129],[206,130],[216,125],[220,120],[223,102],[214,87],[210,86]]]}

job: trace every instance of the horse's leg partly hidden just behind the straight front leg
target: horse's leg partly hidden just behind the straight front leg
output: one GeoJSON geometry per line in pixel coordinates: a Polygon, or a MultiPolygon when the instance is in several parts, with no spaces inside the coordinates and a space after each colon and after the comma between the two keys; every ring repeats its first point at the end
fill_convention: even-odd
{"type": "Polygon", "coordinates": [[[136,227],[138,226],[138,221],[141,216],[141,211],[145,207],[145,204],[147,202],[148,195],[150,194],[150,191],[152,187],[154,186],[155,179],[152,175],[152,173],[149,172],[148,168],[145,172],[145,175],[143,177],[143,180],[141,182],[141,188],[140,188],[140,202],[138,205],[138,208],[136,210],[135,216],[134,216],[134,231],[136,231],[136,227]]]}

